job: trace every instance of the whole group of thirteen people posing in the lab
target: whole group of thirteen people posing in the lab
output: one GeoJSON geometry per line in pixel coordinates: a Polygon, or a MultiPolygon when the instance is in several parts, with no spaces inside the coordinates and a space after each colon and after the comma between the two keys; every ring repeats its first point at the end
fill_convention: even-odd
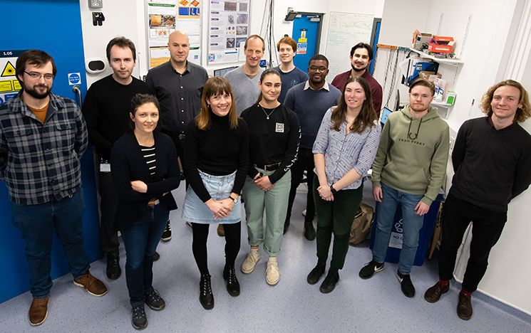
{"type": "MultiPolygon", "coordinates": [[[[307,282],[314,285],[324,275],[332,245],[319,290],[334,290],[372,168],[376,240],[373,260],[359,275],[366,279],[383,270],[400,205],[403,245],[396,275],[404,295],[413,297],[410,273],[418,232],[445,179],[449,154],[448,125],[430,106],[433,84],[411,84],[409,103],[393,112],[382,128],[382,90],[368,73],[373,52],[365,43],[351,49],[351,69],[330,85],[325,56],[309,60],[308,75],[295,68],[297,43],[289,37],[277,44],[279,67],[264,70],[259,67],[264,40],[249,36],[244,65],[225,78],[208,78],[205,68],[187,60],[189,40],[184,33],[171,33],[167,45],[170,60],[151,69],[143,82],[132,75],[133,42],[113,38],[106,49],[113,74],[91,85],[82,112],[72,100],[51,93],[56,75],[51,56],[27,51],[16,62],[21,92],[0,107],[0,179],[9,190],[13,223],[26,242],[33,295],[30,324],[41,324],[48,313],[54,230],[74,284],[91,295],[107,292],[89,272],[83,250],[80,159],[88,142],[96,148],[106,275],[117,279],[121,274],[120,231],[135,329],[148,324],[145,305],[152,310],[165,307],[153,287],[153,261],[159,257],[159,241],[171,238],[169,214],[177,209],[171,191],[182,178],[178,162],[187,187],[182,218],[192,227],[199,300],[205,309],[215,305],[207,262],[210,224],[217,224],[217,232],[225,236],[222,277],[231,296],[240,292],[235,260],[242,211],[249,252],[239,270],[255,270],[262,246],[268,257],[265,280],[277,285],[277,257],[304,171],[304,236],[316,238],[317,257],[307,282]]],[[[502,81],[490,88],[482,108],[488,117],[468,120],[455,139],[455,175],[443,210],[440,280],[425,294],[428,302],[436,302],[448,292],[458,246],[473,221],[473,244],[458,302],[462,319],[472,315],[470,295],[500,237],[507,203],[531,183],[531,136],[517,124],[531,116],[527,92],[520,83],[502,81]]]]}

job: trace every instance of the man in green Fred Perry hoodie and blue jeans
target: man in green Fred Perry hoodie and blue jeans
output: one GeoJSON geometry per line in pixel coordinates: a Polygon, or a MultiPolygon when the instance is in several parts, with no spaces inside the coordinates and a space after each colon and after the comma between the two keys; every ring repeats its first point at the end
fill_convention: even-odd
{"type": "Polygon", "coordinates": [[[400,204],[403,240],[396,277],[407,297],[415,296],[409,273],[417,252],[418,232],[443,184],[448,163],[450,134],[448,124],[430,107],[434,92],[433,83],[426,80],[410,85],[409,104],[388,117],[373,163],[373,196],[378,201],[373,259],[361,268],[359,276],[368,279],[383,270],[400,204]]]}

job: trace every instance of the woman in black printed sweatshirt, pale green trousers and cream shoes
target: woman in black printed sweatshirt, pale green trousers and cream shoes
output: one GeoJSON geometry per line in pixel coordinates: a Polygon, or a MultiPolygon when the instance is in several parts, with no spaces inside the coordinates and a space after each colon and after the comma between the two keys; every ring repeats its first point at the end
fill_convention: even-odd
{"type": "Polygon", "coordinates": [[[251,147],[243,190],[251,248],[241,269],[242,273],[252,273],[260,259],[259,245],[263,243],[269,257],[266,269],[268,285],[277,285],[280,279],[277,255],[282,245],[292,181],[290,169],[297,159],[301,136],[297,115],[278,101],[281,88],[279,72],[264,70],[260,76],[257,103],[242,112],[242,118],[249,127],[251,147]]]}

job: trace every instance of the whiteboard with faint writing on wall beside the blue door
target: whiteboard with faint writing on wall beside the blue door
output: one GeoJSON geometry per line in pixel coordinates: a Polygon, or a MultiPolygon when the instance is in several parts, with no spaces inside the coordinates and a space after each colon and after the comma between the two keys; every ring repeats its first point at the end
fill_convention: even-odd
{"type": "Polygon", "coordinates": [[[359,42],[371,43],[373,15],[330,12],[326,58],[329,60],[328,81],[351,68],[350,51],[359,42]]]}

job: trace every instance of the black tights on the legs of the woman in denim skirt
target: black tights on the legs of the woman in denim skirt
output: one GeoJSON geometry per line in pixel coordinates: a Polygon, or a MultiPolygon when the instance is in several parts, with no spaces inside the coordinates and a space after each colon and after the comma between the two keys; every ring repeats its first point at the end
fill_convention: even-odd
{"type": "MultiPolygon", "coordinates": [[[[210,224],[192,223],[192,252],[200,273],[208,274],[207,238],[210,224]]],[[[225,228],[225,265],[234,265],[239,252],[242,222],[223,224],[225,228]]]]}

